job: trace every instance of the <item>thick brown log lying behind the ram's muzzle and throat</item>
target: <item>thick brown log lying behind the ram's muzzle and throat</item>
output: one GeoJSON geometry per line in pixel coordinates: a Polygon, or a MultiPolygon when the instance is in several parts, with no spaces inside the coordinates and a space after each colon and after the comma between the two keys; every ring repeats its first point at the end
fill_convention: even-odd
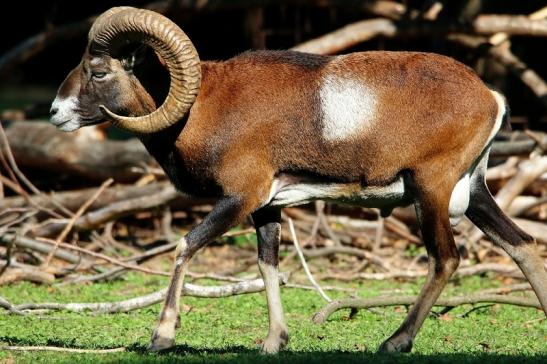
{"type": "Polygon", "coordinates": [[[130,182],[141,176],[134,167],[154,163],[137,139],[80,140],[49,123],[23,121],[11,124],[6,135],[20,167],[130,182]]]}

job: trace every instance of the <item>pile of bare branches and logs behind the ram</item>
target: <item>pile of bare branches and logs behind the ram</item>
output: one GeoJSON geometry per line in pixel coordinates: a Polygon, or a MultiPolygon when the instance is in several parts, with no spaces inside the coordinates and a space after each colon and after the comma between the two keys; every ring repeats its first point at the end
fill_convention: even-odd
{"type": "MultiPolygon", "coordinates": [[[[476,57],[504,65],[547,107],[545,81],[511,51],[510,36],[547,37],[547,11],[530,15],[475,14],[460,21],[443,17],[441,9],[408,9],[394,1],[367,2],[375,16],[302,43],[294,49],[322,54],[342,52],[377,38],[442,37],[466,47],[476,57]]],[[[446,5],[446,4],[445,4],[446,5]]],[[[90,19],[53,34],[34,38],[0,59],[12,67],[63,39],[65,31],[83,31],[90,19]],[[81,27],[81,28],[80,28],[81,27]],[[59,38],[57,38],[59,37],[59,38]]],[[[86,129],[87,130],[87,129],[86,129]]],[[[31,281],[36,284],[75,284],[119,279],[130,271],[168,276],[177,237],[210,211],[210,200],[178,193],[136,139],[114,141],[98,129],[64,134],[47,123],[16,121],[0,127],[0,285],[31,281]],[[52,182],[51,176],[68,176],[52,182]],[[46,178],[46,176],[49,176],[46,178]],[[82,181],[74,187],[74,179],[82,181]],[[102,183],[102,185],[101,185],[102,183]]],[[[500,206],[533,235],[547,257],[547,134],[538,131],[505,133],[492,146],[487,181],[500,206]]],[[[422,246],[412,209],[396,209],[387,218],[373,209],[316,203],[287,208],[282,231],[280,282],[289,287],[315,289],[330,300],[321,280],[415,279],[426,274],[422,246]],[[292,224],[291,223],[291,224],[292,224]],[[300,243],[298,243],[300,242],[300,243]],[[304,267],[304,268],[303,268],[304,267]],[[301,271],[304,269],[306,274],[301,271]],[[314,278],[315,277],[315,278],[314,278]],[[306,280],[312,286],[305,285],[306,280]]],[[[491,274],[521,281],[522,274],[506,254],[464,220],[455,228],[462,254],[456,276],[491,274]]],[[[247,222],[219,239],[196,257],[201,271],[190,280],[214,279],[229,284],[210,287],[185,283],[187,295],[223,297],[263,289],[255,268],[253,248],[237,248],[234,239],[253,238],[247,222]],[[222,254],[215,254],[224,249],[222,254]],[[220,260],[218,256],[222,256],[220,260]]],[[[519,290],[523,288],[520,287],[519,290]]],[[[529,289],[525,287],[524,289],[529,289]]],[[[438,305],[497,302],[537,307],[532,299],[486,293],[441,299],[438,305]]],[[[165,290],[115,303],[12,304],[0,306],[13,314],[68,310],[100,313],[127,312],[162,300],[165,290]]],[[[409,305],[414,297],[373,300],[335,300],[317,315],[322,322],[342,308],[409,305]]]]}

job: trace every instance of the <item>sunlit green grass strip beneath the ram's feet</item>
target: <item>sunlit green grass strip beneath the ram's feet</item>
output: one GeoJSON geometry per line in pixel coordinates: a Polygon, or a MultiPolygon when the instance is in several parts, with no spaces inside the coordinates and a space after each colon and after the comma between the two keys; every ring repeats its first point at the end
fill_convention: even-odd
{"type": "MultiPolygon", "coordinates": [[[[403,295],[416,293],[421,283],[362,282],[352,287],[364,297],[403,295]]],[[[124,280],[92,285],[44,287],[21,283],[0,287],[0,296],[14,303],[116,301],[165,284],[162,278],[130,274],[124,280]]],[[[445,294],[474,292],[496,284],[491,278],[473,277],[452,282],[445,294]]],[[[471,306],[459,307],[448,318],[428,318],[412,354],[393,356],[378,355],[375,350],[402,322],[404,308],[360,311],[351,320],[347,311],[341,311],[319,326],[310,321],[324,303],[315,292],[283,289],[282,295],[291,338],[285,352],[278,356],[264,357],[257,352],[267,331],[265,297],[261,293],[222,299],[184,298],[184,304],[191,309],[182,316],[177,346],[164,354],[146,352],[159,305],[114,315],[56,312],[21,317],[0,311],[0,346],[127,347],[127,352],[111,354],[0,351],[0,362],[482,364],[547,360],[547,323],[536,309],[494,305],[469,312],[471,306]]],[[[342,297],[344,293],[332,295],[342,297]]]]}

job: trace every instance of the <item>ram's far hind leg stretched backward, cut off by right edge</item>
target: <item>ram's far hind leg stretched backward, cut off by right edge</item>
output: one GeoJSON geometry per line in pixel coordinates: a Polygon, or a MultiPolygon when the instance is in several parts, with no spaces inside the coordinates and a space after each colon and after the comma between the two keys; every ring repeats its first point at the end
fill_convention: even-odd
{"type": "Polygon", "coordinates": [[[495,244],[501,246],[522,270],[547,315],[547,272],[534,239],[503,213],[480,174],[472,180],[466,215],[495,244]]]}

